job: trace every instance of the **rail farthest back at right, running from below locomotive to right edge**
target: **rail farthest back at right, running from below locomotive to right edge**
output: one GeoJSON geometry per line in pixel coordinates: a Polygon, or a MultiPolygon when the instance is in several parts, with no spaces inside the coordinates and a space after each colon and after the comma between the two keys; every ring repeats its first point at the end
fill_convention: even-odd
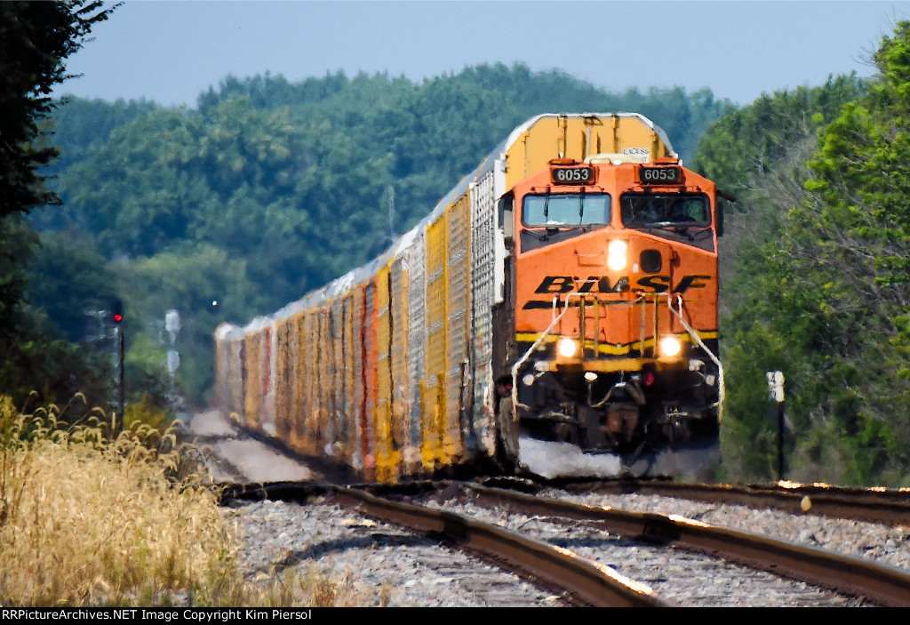
{"type": "Polygon", "coordinates": [[[903,490],[843,489],[825,486],[734,486],[675,482],[616,481],[565,484],[584,492],[638,493],[678,497],[752,508],[780,509],[791,514],[814,514],[832,519],[864,520],[887,525],[910,525],[910,492],[903,490]]]}

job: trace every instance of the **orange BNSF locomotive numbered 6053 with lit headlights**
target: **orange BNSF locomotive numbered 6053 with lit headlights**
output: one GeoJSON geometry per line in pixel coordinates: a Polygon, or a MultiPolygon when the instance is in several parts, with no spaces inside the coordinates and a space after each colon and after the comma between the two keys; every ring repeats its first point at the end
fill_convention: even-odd
{"type": "Polygon", "coordinates": [[[642,160],[552,159],[501,200],[501,456],[537,473],[719,459],[716,190],[676,156],[642,160]]]}

